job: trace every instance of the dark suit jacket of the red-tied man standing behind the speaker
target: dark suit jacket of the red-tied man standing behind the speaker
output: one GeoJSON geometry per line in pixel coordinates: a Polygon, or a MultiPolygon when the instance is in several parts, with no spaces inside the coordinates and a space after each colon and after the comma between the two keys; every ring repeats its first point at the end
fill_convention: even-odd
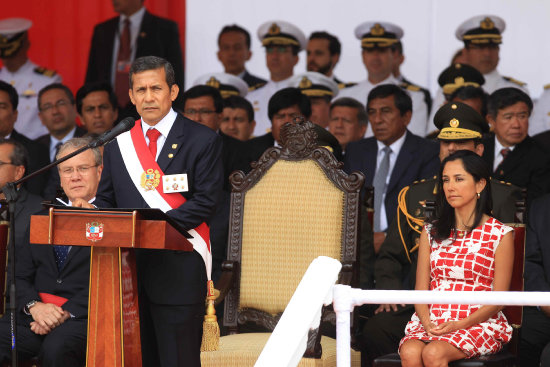
{"type": "MultiPolygon", "coordinates": [[[[113,47],[118,33],[118,23],[119,17],[115,17],[95,26],[88,58],[86,83],[98,81],[111,83],[113,47]]],[[[181,96],[185,85],[177,23],[145,11],[136,42],[136,59],[141,56],[159,56],[172,64],[176,74],[176,84],[180,88],[174,107],[182,109],[181,96]]],[[[133,107],[131,103],[128,105],[133,107]]],[[[124,117],[126,115],[120,116],[120,118],[124,117]]]]}

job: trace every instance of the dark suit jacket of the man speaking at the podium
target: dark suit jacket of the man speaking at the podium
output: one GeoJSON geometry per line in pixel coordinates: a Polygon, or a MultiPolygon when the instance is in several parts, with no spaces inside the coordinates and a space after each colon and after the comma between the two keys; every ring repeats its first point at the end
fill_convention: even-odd
{"type": "MultiPolygon", "coordinates": [[[[178,114],[157,163],[167,175],[187,174],[189,191],[182,193],[187,201],[166,213],[185,229],[196,228],[215,210],[223,186],[221,151],[218,134],[178,114]],[[173,148],[176,145],[177,148],[173,148]],[[173,158],[169,158],[169,154],[173,154],[173,158]]],[[[149,207],[130,179],[116,141],[105,146],[103,164],[96,206],[149,207]]],[[[137,270],[143,290],[155,303],[204,302],[206,271],[195,251],[142,250],[137,253],[137,270]]]]}

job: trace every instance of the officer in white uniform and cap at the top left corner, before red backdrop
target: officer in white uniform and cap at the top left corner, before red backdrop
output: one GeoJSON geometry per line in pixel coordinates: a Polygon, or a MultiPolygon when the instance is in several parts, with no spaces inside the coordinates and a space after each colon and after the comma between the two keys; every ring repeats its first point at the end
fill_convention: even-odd
{"type": "Polygon", "coordinates": [[[29,60],[28,30],[32,22],[23,18],[0,20],[0,80],[10,83],[19,94],[17,131],[29,139],[47,134],[38,118],[38,91],[52,83],[61,83],[54,70],[36,65],[29,60]]]}

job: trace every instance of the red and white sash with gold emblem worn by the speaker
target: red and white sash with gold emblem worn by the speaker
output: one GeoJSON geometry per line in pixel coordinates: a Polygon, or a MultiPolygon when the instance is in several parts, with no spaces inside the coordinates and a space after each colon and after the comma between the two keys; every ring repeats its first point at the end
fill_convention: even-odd
{"type": "MultiPolygon", "coordinates": [[[[130,131],[120,134],[117,137],[117,143],[126,170],[147,205],[151,208],[159,208],[166,213],[185,203],[186,199],[180,193],[167,194],[164,192],[162,183],[164,173],[149,151],[141,130],[141,120],[136,121],[130,131]]],[[[193,249],[202,256],[206,265],[206,274],[210,280],[212,273],[210,230],[206,223],[201,223],[197,228],[187,232],[193,237],[189,239],[189,242],[193,244],[193,249]]]]}

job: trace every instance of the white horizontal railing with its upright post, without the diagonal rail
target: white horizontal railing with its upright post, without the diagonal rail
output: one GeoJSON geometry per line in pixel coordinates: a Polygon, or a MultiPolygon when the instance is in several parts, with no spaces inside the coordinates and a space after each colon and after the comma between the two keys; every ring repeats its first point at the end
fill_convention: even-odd
{"type": "Polygon", "coordinates": [[[363,304],[441,304],[550,306],[550,292],[441,292],[362,290],[347,285],[333,287],[336,312],[336,362],[338,367],[351,364],[350,312],[363,304]]]}

